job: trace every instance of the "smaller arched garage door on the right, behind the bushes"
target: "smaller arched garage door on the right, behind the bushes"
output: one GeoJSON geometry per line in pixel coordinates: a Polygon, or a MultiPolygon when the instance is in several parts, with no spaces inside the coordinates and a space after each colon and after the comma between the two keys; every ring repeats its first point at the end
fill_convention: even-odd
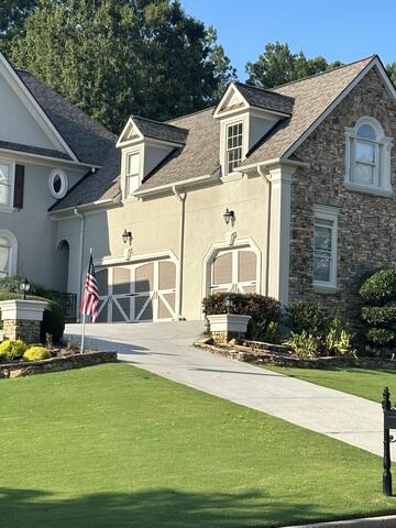
{"type": "Polygon", "coordinates": [[[211,293],[257,293],[257,255],[249,250],[220,251],[211,264],[211,293]]]}

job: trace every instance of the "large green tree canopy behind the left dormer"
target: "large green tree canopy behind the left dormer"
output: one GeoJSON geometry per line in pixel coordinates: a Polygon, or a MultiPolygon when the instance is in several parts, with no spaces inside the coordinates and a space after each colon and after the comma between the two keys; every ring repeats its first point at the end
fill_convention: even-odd
{"type": "Polygon", "coordinates": [[[40,0],[11,59],[116,132],[205,108],[234,76],[216,31],[172,0],[40,0]]]}

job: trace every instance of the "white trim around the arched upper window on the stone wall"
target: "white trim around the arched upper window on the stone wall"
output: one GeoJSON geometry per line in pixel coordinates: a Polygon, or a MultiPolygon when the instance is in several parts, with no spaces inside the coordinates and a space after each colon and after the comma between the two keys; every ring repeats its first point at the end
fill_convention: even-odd
{"type": "Polygon", "coordinates": [[[391,151],[393,146],[393,138],[385,135],[383,128],[378,121],[370,116],[364,116],[359,119],[355,125],[345,128],[345,176],[344,185],[349,190],[359,193],[369,193],[378,196],[391,196],[393,193],[391,183],[391,151]],[[377,185],[365,185],[353,182],[354,174],[354,153],[355,141],[358,139],[358,130],[363,124],[371,127],[376,135],[376,155],[378,157],[376,163],[376,179],[377,185]]]}

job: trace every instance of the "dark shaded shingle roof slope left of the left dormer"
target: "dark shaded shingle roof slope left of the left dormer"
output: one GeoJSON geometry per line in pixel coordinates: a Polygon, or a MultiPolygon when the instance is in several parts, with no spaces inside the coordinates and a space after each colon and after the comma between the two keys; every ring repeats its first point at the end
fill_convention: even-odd
{"type": "Polygon", "coordinates": [[[102,165],[114,134],[29,72],[15,72],[77,158],[81,163],[102,165]]]}

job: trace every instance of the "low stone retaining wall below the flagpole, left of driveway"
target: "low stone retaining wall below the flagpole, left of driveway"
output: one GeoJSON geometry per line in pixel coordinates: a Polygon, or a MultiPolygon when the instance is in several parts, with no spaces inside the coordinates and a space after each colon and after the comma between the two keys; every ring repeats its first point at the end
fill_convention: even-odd
{"type": "Polygon", "coordinates": [[[117,352],[87,352],[51,360],[3,363],[0,364],[0,378],[25,377],[114,362],[117,362],[117,352]]]}

